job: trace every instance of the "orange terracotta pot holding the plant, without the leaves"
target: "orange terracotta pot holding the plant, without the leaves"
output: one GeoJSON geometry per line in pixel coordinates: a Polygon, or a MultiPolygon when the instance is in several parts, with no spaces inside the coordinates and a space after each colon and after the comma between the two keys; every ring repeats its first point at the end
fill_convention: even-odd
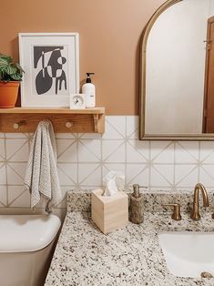
{"type": "Polygon", "coordinates": [[[15,107],[19,84],[19,81],[0,82],[0,108],[15,107]]]}

